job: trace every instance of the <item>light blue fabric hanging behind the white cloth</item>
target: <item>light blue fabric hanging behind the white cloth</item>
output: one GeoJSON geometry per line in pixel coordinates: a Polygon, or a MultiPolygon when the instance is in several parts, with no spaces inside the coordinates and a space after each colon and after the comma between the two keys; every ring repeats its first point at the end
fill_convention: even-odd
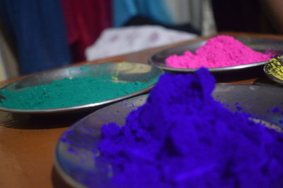
{"type": "Polygon", "coordinates": [[[121,27],[134,15],[163,24],[173,23],[173,14],[164,0],[113,0],[113,25],[121,27]]]}

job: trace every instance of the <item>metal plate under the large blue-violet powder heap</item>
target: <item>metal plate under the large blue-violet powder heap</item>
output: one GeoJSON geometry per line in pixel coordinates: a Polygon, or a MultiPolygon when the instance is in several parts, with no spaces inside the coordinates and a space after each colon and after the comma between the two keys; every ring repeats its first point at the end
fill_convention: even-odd
{"type": "MultiPolygon", "coordinates": [[[[283,126],[282,113],[272,112],[277,106],[283,109],[282,94],[280,87],[227,84],[217,85],[213,96],[231,111],[241,106],[254,118],[283,126]]],[[[111,187],[110,165],[96,160],[100,127],[113,122],[124,125],[128,113],[143,105],[146,98],[147,95],[137,96],[102,108],[64,132],[54,151],[55,168],[64,180],[74,187],[96,187],[98,184],[111,187]]]]}

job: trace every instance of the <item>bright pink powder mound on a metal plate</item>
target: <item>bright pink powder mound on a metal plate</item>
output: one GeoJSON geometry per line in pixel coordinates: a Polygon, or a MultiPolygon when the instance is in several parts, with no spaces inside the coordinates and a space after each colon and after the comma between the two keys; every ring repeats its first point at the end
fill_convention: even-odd
{"type": "Polygon", "coordinates": [[[272,53],[262,54],[231,36],[219,35],[209,39],[195,54],[185,51],[181,56],[169,56],[166,65],[172,68],[219,68],[267,61],[271,57],[272,53]]]}

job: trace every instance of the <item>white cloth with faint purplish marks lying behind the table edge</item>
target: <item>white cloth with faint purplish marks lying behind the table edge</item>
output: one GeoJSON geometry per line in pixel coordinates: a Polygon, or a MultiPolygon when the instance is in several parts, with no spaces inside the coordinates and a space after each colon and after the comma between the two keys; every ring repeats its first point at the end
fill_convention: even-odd
{"type": "Polygon", "coordinates": [[[197,35],[168,30],[158,25],[110,28],[86,49],[86,60],[118,56],[174,42],[195,39],[197,35]]]}

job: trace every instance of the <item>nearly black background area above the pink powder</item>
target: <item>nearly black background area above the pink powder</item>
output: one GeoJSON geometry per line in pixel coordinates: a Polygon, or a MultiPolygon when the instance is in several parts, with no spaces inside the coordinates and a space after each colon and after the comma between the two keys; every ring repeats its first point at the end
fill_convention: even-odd
{"type": "Polygon", "coordinates": [[[277,34],[259,0],[212,0],[216,27],[221,31],[277,34]]]}

